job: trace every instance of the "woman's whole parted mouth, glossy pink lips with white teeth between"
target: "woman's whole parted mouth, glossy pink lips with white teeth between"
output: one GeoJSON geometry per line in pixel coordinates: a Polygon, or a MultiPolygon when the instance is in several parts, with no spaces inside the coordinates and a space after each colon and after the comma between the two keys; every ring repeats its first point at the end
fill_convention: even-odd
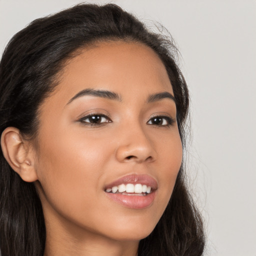
{"type": "Polygon", "coordinates": [[[152,204],[156,189],[157,182],[151,176],[131,174],[105,185],[104,191],[107,197],[116,203],[141,209],[152,204]]]}

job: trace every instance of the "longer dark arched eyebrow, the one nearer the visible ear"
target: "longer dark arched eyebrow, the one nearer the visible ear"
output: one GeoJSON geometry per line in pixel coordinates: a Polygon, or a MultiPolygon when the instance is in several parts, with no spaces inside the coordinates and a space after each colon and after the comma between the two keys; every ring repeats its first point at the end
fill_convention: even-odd
{"type": "Polygon", "coordinates": [[[69,104],[75,98],[82,97],[82,96],[85,96],[85,95],[96,96],[96,97],[107,98],[107,99],[113,99],[113,100],[118,100],[118,101],[122,100],[121,96],[119,94],[113,92],[113,91],[109,91],[109,90],[96,90],[96,89],[87,88],[87,89],[81,90],[77,94],[75,94],[67,102],[67,104],[69,104]]]}

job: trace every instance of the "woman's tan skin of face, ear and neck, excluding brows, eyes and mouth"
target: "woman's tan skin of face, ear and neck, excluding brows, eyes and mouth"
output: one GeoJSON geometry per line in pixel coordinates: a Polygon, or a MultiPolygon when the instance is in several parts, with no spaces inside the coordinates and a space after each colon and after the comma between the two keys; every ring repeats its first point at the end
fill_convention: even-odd
{"type": "Polygon", "coordinates": [[[170,98],[146,102],[173,90],[164,65],[149,47],[104,42],[84,49],[61,72],[56,90],[39,109],[36,145],[18,130],[3,134],[4,155],[25,181],[34,181],[46,225],[46,255],[136,255],[138,242],[161,217],[181,164],[182,146],[170,98]],[[113,91],[121,101],[84,95],[113,91]],[[69,103],[68,103],[69,102],[69,103]],[[104,114],[90,125],[87,114],[104,114]],[[173,123],[152,123],[166,115],[173,123]],[[19,146],[18,146],[19,145],[19,146]],[[128,174],[157,181],[152,204],[142,209],[109,199],[104,187],[128,174]]]}

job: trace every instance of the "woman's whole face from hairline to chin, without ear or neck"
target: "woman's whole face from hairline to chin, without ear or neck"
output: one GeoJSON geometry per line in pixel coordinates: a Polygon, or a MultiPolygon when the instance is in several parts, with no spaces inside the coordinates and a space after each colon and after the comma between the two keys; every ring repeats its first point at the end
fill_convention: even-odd
{"type": "Polygon", "coordinates": [[[153,230],[182,158],[172,96],[164,65],[139,43],[100,43],[67,62],[39,109],[46,227],[116,240],[153,230]]]}

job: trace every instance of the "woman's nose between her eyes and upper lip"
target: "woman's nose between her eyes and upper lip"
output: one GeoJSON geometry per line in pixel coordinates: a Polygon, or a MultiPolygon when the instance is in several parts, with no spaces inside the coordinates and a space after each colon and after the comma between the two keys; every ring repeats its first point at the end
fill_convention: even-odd
{"type": "Polygon", "coordinates": [[[152,162],[156,159],[153,141],[141,127],[126,126],[121,129],[116,159],[119,162],[152,162]]]}

